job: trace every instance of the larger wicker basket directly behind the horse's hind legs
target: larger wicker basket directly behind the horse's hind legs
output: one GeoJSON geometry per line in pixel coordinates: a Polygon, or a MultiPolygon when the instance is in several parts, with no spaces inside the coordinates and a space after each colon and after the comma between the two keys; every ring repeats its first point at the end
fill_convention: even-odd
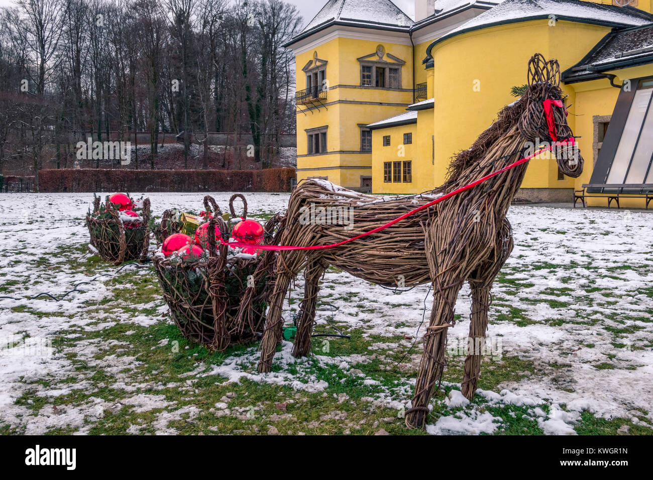
{"type": "MultiPolygon", "coordinates": [[[[236,217],[231,197],[229,208],[236,217]]],[[[247,255],[219,244],[215,227],[227,241],[231,229],[212,197],[204,197],[204,219],[208,226],[208,251],[200,259],[191,255],[165,257],[161,251],[153,256],[153,264],[163,289],[163,298],[170,307],[172,319],[183,336],[211,351],[224,351],[231,344],[247,344],[263,332],[263,323],[270,288],[274,285],[276,252],[259,251],[247,255]],[[214,206],[213,214],[209,206],[214,206]]],[[[264,244],[278,242],[275,228],[283,221],[279,214],[264,227],[264,244]]],[[[163,224],[165,227],[165,224],[163,224]]],[[[163,232],[163,238],[167,232],[163,232]]]]}

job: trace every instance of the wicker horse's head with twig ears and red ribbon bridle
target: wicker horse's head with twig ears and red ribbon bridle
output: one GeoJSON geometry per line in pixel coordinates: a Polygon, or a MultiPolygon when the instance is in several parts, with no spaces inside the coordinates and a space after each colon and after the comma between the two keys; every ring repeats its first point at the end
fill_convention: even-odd
{"type": "Polygon", "coordinates": [[[534,150],[549,143],[560,171],[576,178],[582,173],[582,155],[567,123],[564,93],[560,89],[560,65],[535,54],[528,61],[528,88],[524,94],[526,108],[518,127],[534,150]],[[556,142],[562,142],[558,144],[556,142]]]}

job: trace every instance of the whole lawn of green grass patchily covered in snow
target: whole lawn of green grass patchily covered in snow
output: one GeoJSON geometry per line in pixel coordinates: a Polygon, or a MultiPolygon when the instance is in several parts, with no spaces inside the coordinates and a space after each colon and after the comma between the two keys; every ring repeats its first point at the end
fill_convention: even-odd
{"type": "MultiPolygon", "coordinates": [[[[230,196],[214,194],[223,208],[230,196]]],[[[202,210],[199,193],[149,197],[157,215],[202,210]]],[[[288,200],[246,197],[261,219],[288,200]]],[[[315,338],[300,360],[284,342],[260,375],[256,345],[208,355],[181,338],[150,265],[89,253],[92,200],[0,194],[0,297],[12,297],[0,298],[0,433],[408,431],[428,286],[399,294],[328,270],[316,329],[330,321],[351,339],[315,338]],[[42,292],[68,295],[32,299],[42,292]]],[[[479,392],[470,404],[459,391],[465,288],[426,432],[653,433],[653,216],[513,206],[509,219],[515,251],[492,290],[479,392]]],[[[299,278],[287,323],[302,293],[299,278]]]]}

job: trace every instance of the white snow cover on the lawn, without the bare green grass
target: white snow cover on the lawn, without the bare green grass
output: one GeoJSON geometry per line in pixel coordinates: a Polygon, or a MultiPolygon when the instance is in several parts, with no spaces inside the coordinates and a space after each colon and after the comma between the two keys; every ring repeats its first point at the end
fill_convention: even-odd
{"type": "MultiPolygon", "coordinates": [[[[140,197],[140,193],[132,195],[140,197]]],[[[232,193],[213,195],[219,206],[227,210],[232,193]]],[[[202,193],[152,193],[147,196],[155,215],[160,216],[171,206],[196,212],[203,210],[202,193]]],[[[257,214],[283,212],[289,195],[248,193],[246,197],[250,216],[256,217],[257,214]]],[[[117,269],[101,264],[93,271],[76,272],[68,266],[71,255],[90,255],[80,253],[79,247],[88,244],[84,216],[92,200],[93,195],[89,193],[0,194],[0,244],[3,249],[0,287],[5,287],[5,291],[0,290],[0,296],[18,298],[0,298],[0,339],[5,343],[8,338],[48,339],[62,332],[65,334],[73,327],[99,330],[108,325],[98,324],[96,317],[89,316],[85,302],[99,302],[112,295],[104,282],[118,275],[117,269]],[[70,293],[61,302],[46,296],[25,300],[26,296],[41,292],[58,298],[76,285],[82,292],[70,293]],[[22,306],[29,306],[32,313],[22,312],[20,308],[18,312],[10,310],[22,306]]],[[[646,212],[626,210],[541,206],[513,206],[508,217],[515,234],[515,250],[502,270],[505,281],[495,283],[492,290],[494,304],[490,310],[488,338],[498,340],[495,345],[498,351],[493,355],[528,360],[534,364],[535,372],[519,381],[504,382],[495,392],[481,390],[479,395],[492,405],[529,408],[540,428],[549,434],[573,433],[573,424],[584,410],[607,419],[632,417],[634,411],[640,418],[652,421],[653,411],[649,409],[653,404],[650,381],[653,374],[653,323],[650,318],[653,312],[650,298],[653,217],[646,212]],[[508,283],[511,281],[515,285],[508,283]],[[512,315],[511,308],[517,308],[517,317],[524,318],[512,315]],[[498,318],[500,315],[503,316],[498,318]],[[611,368],[596,368],[597,364],[604,363],[611,368]],[[549,413],[537,407],[541,404],[550,406],[549,413]]],[[[301,280],[297,286],[302,286],[301,280]]],[[[427,298],[426,285],[395,295],[349,274],[327,272],[321,295],[329,293],[332,296],[328,303],[338,310],[333,313],[328,309],[319,311],[317,328],[326,328],[325,320],[332,315],[334,323],[360,328],[364,336],[415,337],[418,328],[418,336],[421,336],[425,330],[421,325],[425,306],[428,323],[430,296],[427,298]],[[362,313],[362,307],[371,308],[375,313],[362,313]]],[[[301,295],[300,288],[291,292],[296,300],[301,295]]],[[[158,315],[167,310],[162,305],[163,302],[158,315]]],[[[289,304],[286,307],[291,308],[289,304]]],[[[449,347],[464,342],[469,328],[469,310],[469,289],[464,287],[456,302],[456,313],[461,318],[449,331],[449,347]]],[[[161,317],[133,317],[118,311],[112,312],[112,319],[153,325],[161,317]]],[[[137,362],[135,358],[109,355],[95,359],[94,355],[109,345],[92,340],[75,343],[74,337],[69,338],[74,346],[46,346],[42,355],[7,355],[6,349],[2,352],[0,425],[25,424],[25,431],[29,433],[67,426],[84,433],[90,428],[89,419],[101,417],[107,408],[124,408],[122,404],[140,411],[173,407],[163,396],[136,392],[143,385],[135,383],[128,373],[130,366],[137,362]],[[103,368],[115,376],[113,387],[125,392],[121,405],[106,405],[103,400],[95,399],[62,412],[48,404],[39,415],[33,416],[24,406],[14,403],[28,389],[50,398],[62,394],[61,389],[88,388],[88,381],[82,377],[77,383],[65,383],[65,387],[53,381],[76,375],[66,357],[70,352],[87,360],[91,368],[103,368]],[[39,382],[43,379],[48,379],[53,387],[41,385],[39,382]]],[[[128,339],[125,338],[124,345],[129,345],[128,339]]],[[[411,344],[412,340],[402,340],[399,345],[377,342],[373,347],[386,351],[396,346],[406,349],[411,344]]],[[[4,348],[1,343],[0,348],[4,348]]],[[[282,368],[274,374],[259,375],[250,368],[258,359],[255,348],[239,357],[228,358],[223,364],[214,366],[209,374],[230,381],[245,377],[307,392],[323,391],[328,383],[306,374],[308,368],[303,372],[301,367],[305,360],[294,359],[290,350],[291,344],[285,342],[275,357],[282,368]],[[286,372],[291,363],[298,364],[296,376],[286,372]]],[[[373,354],[368,350],[348,357],[318,356],[317,361],[337,364],[349,371],[353,365],[369,361],[368,356],[373,354]]],[[[419,362],[419,355],[421,343],[417,342],[406,361],[414,365],[419,362]]],[[[370,378],[362,380],[374,382],[370,378]]],[[[414,379],[406,379],[405,384],[390,389],[374,401],[389,408],[409,408],[412,385],[414,379]]],[[[163,388],[155,383],[150,387],[163,388]]],[[[459,384],[454,388],[459,388],[459,384]]],[[[496,431],[500,419],[479,411],[473,402],[468,405],[463,400],[459,392],[452,391],[445,403],[462,410],[441,417],[428,426],[428,432],[477,434],[496,431]]],[[[183,412],[166,410],[157,414],[157,431],[174,433],[167,428],[167,423],[184,412],[191,416],[197,414],[187,408],[183,412]]],[[[132,430],[138,432],[139,428],[134,426],[132,430]]]]}

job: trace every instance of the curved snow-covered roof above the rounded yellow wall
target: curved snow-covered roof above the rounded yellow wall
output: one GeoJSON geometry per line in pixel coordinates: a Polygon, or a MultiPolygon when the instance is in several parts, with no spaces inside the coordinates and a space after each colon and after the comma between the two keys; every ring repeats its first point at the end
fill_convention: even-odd
{"type": "MultiPolygon", "coordinates": [[[[453,0],[451,0],[453,1],[453,0]]],[[[613,27],[635,27],[653,22],[653,15],[633,7],[616,7],[580,0],[503,0],[479,16],[435,40],[426,49],[460,33],[492,25],[524,22],[554,15],[558,20],[582,20],[613,27]]]]}

